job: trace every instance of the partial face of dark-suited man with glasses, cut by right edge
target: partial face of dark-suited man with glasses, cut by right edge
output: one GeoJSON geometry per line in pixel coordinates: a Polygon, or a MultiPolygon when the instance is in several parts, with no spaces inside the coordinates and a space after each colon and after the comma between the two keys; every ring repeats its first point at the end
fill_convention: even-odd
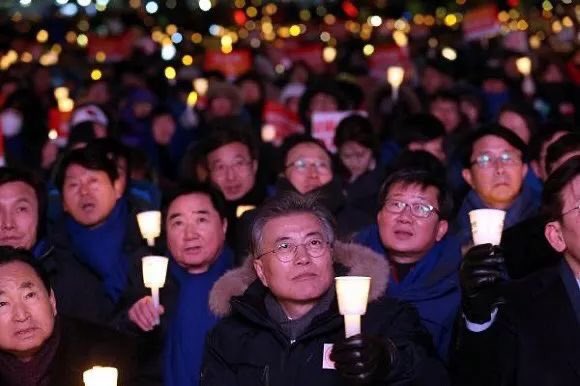
{"type": "Polygon", "coordinates": [[[564,253],[576,277],[580,278],[580,176],[570,181],[560,193],[562,213],[559,220],[546,224],[544,234],[552,247],[564,253]]]}

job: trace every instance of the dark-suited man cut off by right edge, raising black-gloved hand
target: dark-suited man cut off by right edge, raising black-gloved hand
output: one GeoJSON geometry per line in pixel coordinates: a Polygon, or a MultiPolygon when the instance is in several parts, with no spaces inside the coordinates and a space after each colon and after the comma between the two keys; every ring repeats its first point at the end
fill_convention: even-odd
{"type": "Polygon", "coordinates": [[[580,384],[579,192],[576,156],[544,186],[544,235],[564,255],[557,266],[502,286],[500,248],[480,245],[465,256],[460,273],[465,323],[454,366],[458,384],[580,384]]]}

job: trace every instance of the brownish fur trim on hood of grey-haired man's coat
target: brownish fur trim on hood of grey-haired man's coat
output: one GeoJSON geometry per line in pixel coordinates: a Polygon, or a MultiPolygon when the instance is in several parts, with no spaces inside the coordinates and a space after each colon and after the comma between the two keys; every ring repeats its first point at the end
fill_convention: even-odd
{"type": "MultiPolygon", "coordinates": [[[[389,281],[389,264],[384,256],[362,245],[337,241],[333,257],[335,263],[347,268],[348,276],[371,277],[369,302],[383,296],[389,281]]],[[[229,315],[231,298],[243,295],[257,278],[251,258],[241,267],[226,272],[211,289],[209,308],[212,313],[218,317],[229,315]]]]}

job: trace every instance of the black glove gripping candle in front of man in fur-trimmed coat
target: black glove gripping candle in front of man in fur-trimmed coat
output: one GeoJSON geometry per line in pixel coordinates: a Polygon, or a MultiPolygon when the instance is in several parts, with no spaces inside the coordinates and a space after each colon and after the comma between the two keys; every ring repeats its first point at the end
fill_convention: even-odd
{"type": "Polygon", "coordinates": [[[365,385],[387,377],[395,353],[390,341],[359,334],[335,343],[330,359],[343,378],[365,385]]]}

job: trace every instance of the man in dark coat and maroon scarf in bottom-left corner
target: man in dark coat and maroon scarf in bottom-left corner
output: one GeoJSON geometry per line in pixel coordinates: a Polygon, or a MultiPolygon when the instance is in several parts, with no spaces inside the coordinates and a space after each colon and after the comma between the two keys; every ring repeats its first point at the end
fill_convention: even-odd
{"type": "MultiPolygon", "coordinates": [[[[29,251],[0,247],[0,384],[76,386],[95,365],[134,376],[132,345],[101,327],[57,317],[46,272],[29,251]]],[[[133,384],[133,383],[131,383],[133,384]]]]}

